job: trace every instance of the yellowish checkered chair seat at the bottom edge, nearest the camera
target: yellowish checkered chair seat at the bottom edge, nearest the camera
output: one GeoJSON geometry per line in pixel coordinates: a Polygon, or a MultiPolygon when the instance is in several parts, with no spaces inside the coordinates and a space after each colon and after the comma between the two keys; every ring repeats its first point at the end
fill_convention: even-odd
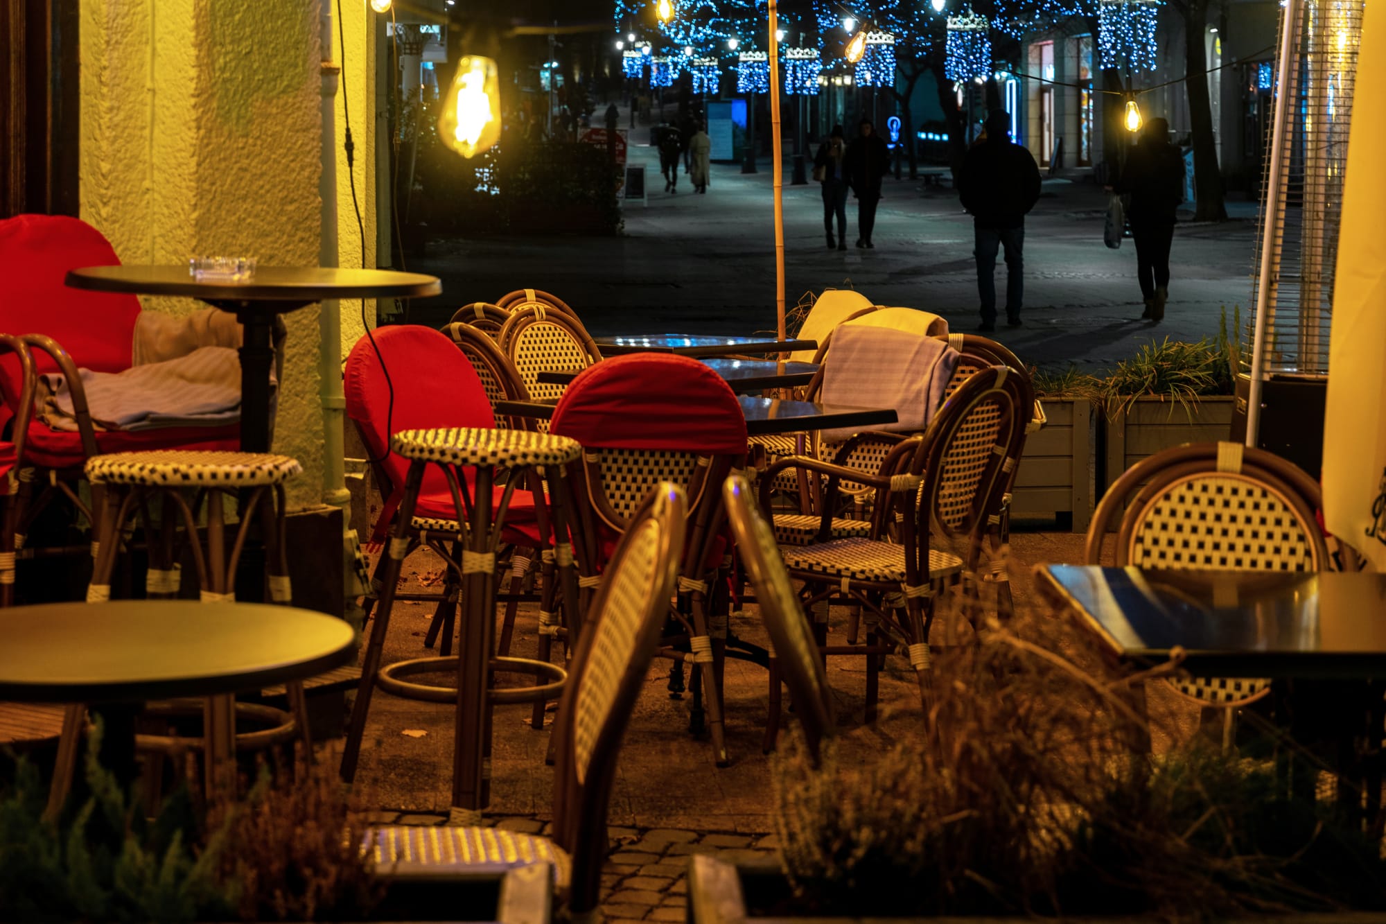
{"type": "Polygon", "coordinates": [[[363,849],[376,855],[378,874],[396,880],[550,863],[554,888],[565,889],[572,873],[568,855],[549,838],[500,828],[383,825],[366,831],[363,849]]]}

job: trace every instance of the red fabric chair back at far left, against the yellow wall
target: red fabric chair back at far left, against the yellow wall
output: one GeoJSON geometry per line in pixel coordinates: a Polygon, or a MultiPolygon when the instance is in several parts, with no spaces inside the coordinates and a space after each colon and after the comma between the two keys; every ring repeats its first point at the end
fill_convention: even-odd
{"type": "MultiPolygon", "coordinates": [[[[17,215],[0,221],[0,332],[47,334],[79,368],[129,369],[140,300],[62,284],[69,269],[119,264],[101,232],[78,218],[17,215]]],[[[39,351],[33,363],[40,373],[54,369],[39,351]]],[[[19,384],[18,359],[4,357],[0,390],[7,405],[18,398],[19,384]]]]}

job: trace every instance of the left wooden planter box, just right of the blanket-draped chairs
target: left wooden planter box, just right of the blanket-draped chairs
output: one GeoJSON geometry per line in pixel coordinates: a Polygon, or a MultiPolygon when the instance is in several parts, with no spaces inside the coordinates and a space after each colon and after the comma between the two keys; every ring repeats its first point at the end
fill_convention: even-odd
{"type": "Polygon", "coordinates": [[[1087,398],[1041,398],[1046,422],[1026,438],[1010,498],[1012,519],[1058,519],[1088,529],[1096,490],[1096,412],[1087,398]]]}

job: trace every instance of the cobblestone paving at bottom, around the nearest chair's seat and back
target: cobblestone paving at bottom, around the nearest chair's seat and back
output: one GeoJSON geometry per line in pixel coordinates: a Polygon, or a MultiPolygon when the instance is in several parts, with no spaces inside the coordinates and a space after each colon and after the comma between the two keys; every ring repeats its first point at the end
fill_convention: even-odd
{"type": "MultiPolygon", "coordinates": [[[[373,824],[439,825],[445,814],[374,812],[373,824]]],[[[549,834],[552,827],[534,816],[491,819],[495,827],[523,834],[549,834]]],[[[687,917],[689,857],[710,853],[728,863],[775,856],[773,834],[690,831],[686,828],[607,830],[611,850],[602,873],[602,917],[618,921],[682,921],[687,917]]]]}

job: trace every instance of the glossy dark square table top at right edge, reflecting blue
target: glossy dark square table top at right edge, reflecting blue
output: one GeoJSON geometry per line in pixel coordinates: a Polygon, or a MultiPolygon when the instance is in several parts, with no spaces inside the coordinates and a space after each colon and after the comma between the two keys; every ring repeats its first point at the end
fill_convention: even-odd
{"type": "Polygon", "coordinates": [[[1386,574],[1041,565],[1113,652],[1199,677],[1386,676],[1386,574]]]}

